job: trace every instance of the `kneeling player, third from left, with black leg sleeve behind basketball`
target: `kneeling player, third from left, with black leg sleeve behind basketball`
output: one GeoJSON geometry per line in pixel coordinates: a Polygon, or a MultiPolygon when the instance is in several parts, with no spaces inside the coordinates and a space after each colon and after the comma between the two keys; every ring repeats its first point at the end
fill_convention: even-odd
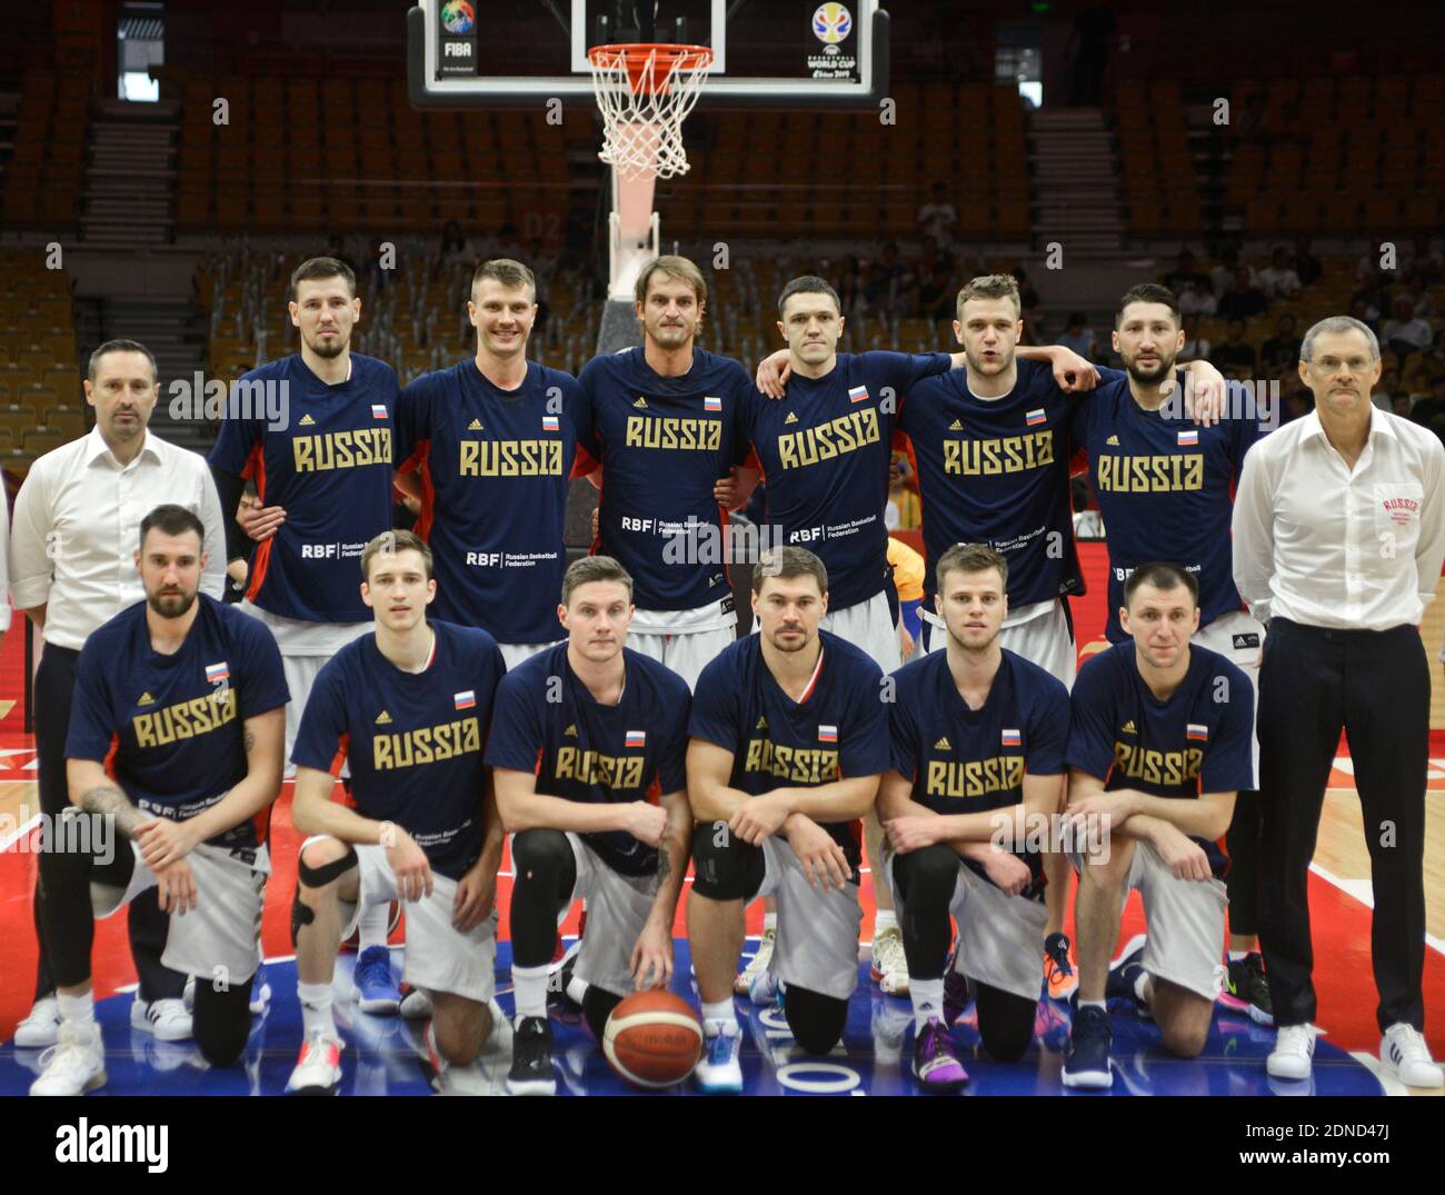
{"type": "Polygon", "coordinates": [[[575,975],[598,1042],[631,990],[672,978],[672,918],[688,868],[688,685],[623,646],[631,577],[584,556],[562,578],[566,642],[497,688],[487,763],[512,840],[517,1023],[507,1091],[552,1095],[548,964],[556,926],[587,899],[575,975]]]}

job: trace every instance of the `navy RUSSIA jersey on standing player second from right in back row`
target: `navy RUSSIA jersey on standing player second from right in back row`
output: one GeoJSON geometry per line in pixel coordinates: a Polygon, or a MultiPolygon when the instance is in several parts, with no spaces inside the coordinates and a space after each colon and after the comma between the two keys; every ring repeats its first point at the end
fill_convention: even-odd
{"type": "Polygon", "coordinates": [[[923,504],[923,608],[933,608],[938,558],[987,543],[1009,561],[1009,608],[1084,592],[1069,506],[1075,400],[1046,363],[1019,361],[1001,399],[978,399],[968,371],[918,383],[899,431],[910,442],[923,504]]]}

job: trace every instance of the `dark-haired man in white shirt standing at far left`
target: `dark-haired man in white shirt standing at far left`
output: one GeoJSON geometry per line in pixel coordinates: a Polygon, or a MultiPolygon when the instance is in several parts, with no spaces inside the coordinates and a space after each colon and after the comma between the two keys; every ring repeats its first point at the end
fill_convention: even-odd
{"type": "MultiPolygon", "coordinates": [[[[91,354],[85,379],[95,428],[40,457],[16,497],[10,594],[16,608],[45,636],[35,673],[35,747],[40,812],[51,819],[71,803],[65,735],[81,647],[92,630],[144,598],[133,561],[140,520],[163,503],[197,514],[211,558],[201,587],[214,598],[224,591],[225,532],[215,486],[202,457],[147,431],[159,397],[150,350],[129,340],[103,344],[91,354]]],[[[16,1026],[19,1046],[55,1045],[62,1011],[55,984],[74,984],[77,978],[53,974],[46,942],[65,918],[78,913],[88,922],[90,909],[77,909],[77,902],[65,896],[78,892],[85,900],[88,870],[85,854],[40,855],[35,905],[39,977],[35,1007],[16,1026]]],[[[160,965],[169,918],[153,892],[131,903],[129,918],[140,975],[130,1023],[165,1040],[184,1040],[191,1036],[191,1016],[181,998],[185,977],[160,965]]]]}

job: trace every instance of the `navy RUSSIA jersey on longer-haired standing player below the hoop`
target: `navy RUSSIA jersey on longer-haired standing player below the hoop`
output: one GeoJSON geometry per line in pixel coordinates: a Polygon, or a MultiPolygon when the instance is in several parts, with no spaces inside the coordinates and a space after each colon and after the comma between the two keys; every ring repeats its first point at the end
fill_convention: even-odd
{"type": "Polygon", "coordinates": [[[701,348],[685,374],[659,377],[637,347],[594,357],[578,381],[592,410],[584,448],[603,465],[594,551],[631,574],[639,610],[696,610],[728,597],[727,516],[712,487],[747,460],[753,380],[731,357],[701,348]]]}

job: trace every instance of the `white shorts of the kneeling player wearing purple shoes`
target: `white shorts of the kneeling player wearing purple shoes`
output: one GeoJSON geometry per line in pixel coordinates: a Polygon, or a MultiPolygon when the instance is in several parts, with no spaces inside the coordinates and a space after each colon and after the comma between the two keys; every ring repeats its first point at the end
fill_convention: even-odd
{"type": "MultiPolygon", "coordinates": [[[[883,874],[893,892],[893,903],[903,919],[903,897],[893,883],[889,851],[883,874]]],[[[949,902],[958,922],[957,971],[988,987],[1025,1000],[1038,1000],[1043,987],[1043,931],[1049,920],[1042,900],[1009,896],[972,868],[958,861],[958,880],[949,902]]]]}

